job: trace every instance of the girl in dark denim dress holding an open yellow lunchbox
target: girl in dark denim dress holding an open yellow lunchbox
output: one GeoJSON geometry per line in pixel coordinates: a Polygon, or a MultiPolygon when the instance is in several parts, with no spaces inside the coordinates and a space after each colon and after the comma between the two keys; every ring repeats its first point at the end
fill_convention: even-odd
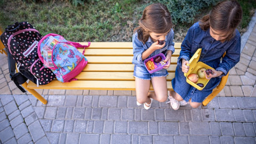
{"type": "Polygon", "coordinates": [[[209,14],[189,28],[181,44],[175,78],[172,80],[173,90],[169,97],[171,107],[179,109],[180,105],[190,103],[197,108],[203,100],[212,93],[220,83],[221,77],[236,65],[240,59],[241,36],[236,29],[242,20],[242,8],[236,1],[219,2],[209,14]],[[202,91],[197,90],[186,82],[184,73],[189,70],[189,59],[202,49],[199,61],[214,68],[213,74],[206,75],[210,79],[202,91]],[[221,61],[223,53],[225,53],[221,61]]]}

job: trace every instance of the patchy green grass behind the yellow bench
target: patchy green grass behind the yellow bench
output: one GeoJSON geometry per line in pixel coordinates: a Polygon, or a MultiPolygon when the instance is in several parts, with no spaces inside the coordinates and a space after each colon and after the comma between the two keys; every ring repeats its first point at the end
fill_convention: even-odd
{"type": "MultiPolygon", "coordinates": [[[[243,34],[256,9],[255,0],[238,0],[243,7],[243,34]]],[[[75,42],[131,42],[133,29],[138,26],[143,9],[149,1],[91,0],[73,5],[69,0],[0,0],[0,26],[5,28],[16,21],[28,21],[42,35],[56,33],[75,42]]],[[[197,18],[210,11],[202,10],[197,18]]],[[[195,22],[198,19],[195,19],[195,22]]],[[[192,23],[174,26],[175,42],[182,42],[192,23]]]]}

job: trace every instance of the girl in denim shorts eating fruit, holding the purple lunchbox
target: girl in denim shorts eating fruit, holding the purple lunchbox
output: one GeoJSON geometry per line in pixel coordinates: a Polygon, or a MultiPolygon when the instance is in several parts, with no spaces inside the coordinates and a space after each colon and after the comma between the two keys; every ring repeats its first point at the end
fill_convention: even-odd
{"type": "Polygon", "coordinates": [[[163,4],[152,4],[145,8],[142,18],[139,20],[139,27],[134,29],[132,37],[133,60],[135,77],[135,89],[137,105],[144,103],[144,108],[149,109],[153,99],[164,102],[167,99],[167,68],[171,63],[171,56],[174,52],[172,18],[169,10],[163,4]],[[158,40],[165,41],[163,45],[158,40]],[[159,71],[150,74],[143,61],[163,53],[167,65],[159,71]],[[150,81],[154,92],[149,92],[150,81]]]}

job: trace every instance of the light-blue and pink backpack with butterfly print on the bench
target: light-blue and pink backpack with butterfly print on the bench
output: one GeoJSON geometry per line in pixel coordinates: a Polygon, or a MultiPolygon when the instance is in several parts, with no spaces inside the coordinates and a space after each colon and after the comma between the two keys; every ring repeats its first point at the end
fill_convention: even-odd
{"type": "Polygon", "coordinates": [[[69,42],[61,35],[47,34],[38,43],[37,53],[44,66],[50,68],[62,83],[77,80],[77,76],[87,65],[84,57],[85,47],[76,42],[69,42]],[[83,47],[83,53],[77,50],[83,47]]]}

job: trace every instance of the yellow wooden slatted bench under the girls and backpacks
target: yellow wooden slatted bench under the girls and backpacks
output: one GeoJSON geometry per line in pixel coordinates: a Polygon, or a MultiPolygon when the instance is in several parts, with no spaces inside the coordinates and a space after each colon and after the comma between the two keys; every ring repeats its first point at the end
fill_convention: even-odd
{"type": "MultiPolygon", "coordinates": [[[[87,43],[81,43],[87,45],[87,43]]],[[[172,91],[171,81],[175,76],[177,59],[181,50],[181,43],[175,43],[175,52],[171,58],[171,66],[167,69],[167,90],[172,91]]],[[[83,49],[78,49],[83,51],[83,49]]],[[[135,90],[135,78],[133,77],[133,49],[131,42],[92,42],[85,50],[88,60],[87,66],[81,74],[77,75],[77,81],[61,83],[57,80],[47,85],[37,87],[33,82],[22,84],[26,90],[38,100],[46,104],[47,101],[34,89],[63,89],[63,90],[135,90]]],[[[227,82],[223,77],[219,85],[204,102],[206,106],[217,95],[227,82]]],[[[150,85],[150,90],[153,90],[150,85]]]]}

